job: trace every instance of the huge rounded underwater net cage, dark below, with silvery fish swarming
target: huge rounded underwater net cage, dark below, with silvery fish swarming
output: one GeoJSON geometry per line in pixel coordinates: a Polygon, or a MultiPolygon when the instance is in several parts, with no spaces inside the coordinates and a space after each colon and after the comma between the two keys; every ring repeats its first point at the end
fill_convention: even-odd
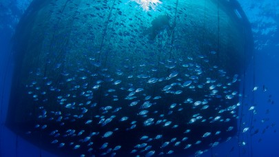
{"type": "Polygon", "coordinates": [[[200,154],[236,134],[251,41],[235,1],[34,0],[7,125],[55,154],[200,154]]]}

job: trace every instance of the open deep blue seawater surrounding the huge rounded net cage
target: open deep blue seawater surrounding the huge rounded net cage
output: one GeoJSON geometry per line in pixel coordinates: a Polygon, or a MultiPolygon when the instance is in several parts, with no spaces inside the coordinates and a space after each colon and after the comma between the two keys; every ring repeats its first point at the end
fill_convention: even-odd
{"type": "MultiPolygon", "coordinates": [[[[0,157],[55,156],[5,125],[14,68],[12,36],[30,2],[0,0],[0,157]]],[[[238,2],[254,36],[254,57],[245,67],[240,90],[244,96],[238,111],[241,129],[231,140],[200,156],[279,156],[279,1],[238,2]],[[245,128],[248,130],[244,132],[245,128]]]]}

